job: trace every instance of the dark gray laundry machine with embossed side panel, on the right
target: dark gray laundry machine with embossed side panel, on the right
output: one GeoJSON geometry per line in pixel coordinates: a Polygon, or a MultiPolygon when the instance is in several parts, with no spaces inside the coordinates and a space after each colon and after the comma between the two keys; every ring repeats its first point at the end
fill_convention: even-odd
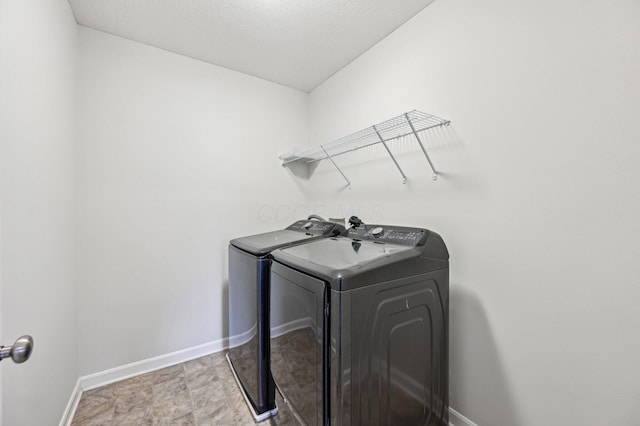
{"type": "Polygon", "coordinates": [[[301,422],[448,425],[438,234],[369,225],[272,256],[271,371],[301,422]]]}

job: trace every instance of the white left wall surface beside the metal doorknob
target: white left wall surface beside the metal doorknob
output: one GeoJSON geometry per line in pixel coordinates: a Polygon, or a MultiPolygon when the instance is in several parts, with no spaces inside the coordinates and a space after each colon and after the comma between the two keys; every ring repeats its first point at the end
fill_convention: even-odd
{"type": "Polygon", "coordinates": [[[1,344],[4,425],[59,421],[78,377],[74,79],[77,26],[64,0],[0,0],[1,344]]]}

